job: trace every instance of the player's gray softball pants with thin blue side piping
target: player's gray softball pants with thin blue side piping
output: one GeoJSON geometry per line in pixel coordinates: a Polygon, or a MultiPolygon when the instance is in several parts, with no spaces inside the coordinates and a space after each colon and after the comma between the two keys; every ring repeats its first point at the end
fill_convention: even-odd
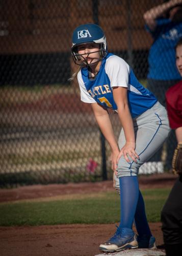
{"type": "MultiPolygon", "coordinates": [[[[167,111],[159,102],[133,121],[136,136],[135,151],[140,160],[135,163],[132,159],[129,159],[131,163],[127,163],[124,157],[121,156],[117,167],[118,178],[137,176],[140,166],[159,150],[170,134],[167,111]]],[[[125,136],[123,129],[121,129],[118,140],[120,150],[124,144],[125,136]]],[[[119,180],[116,183],[118,182],[119,180]]]]}

